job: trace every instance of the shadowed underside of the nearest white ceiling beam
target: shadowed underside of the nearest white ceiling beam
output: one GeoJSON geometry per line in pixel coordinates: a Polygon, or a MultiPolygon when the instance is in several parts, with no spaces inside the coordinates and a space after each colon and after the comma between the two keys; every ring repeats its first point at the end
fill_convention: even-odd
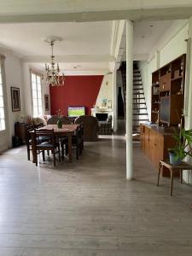
{"type": "MultiPolygon", "coordinates": [[[[124,0],[125,1],[125,0],[124,0]]],[[[128,1],[125,1],[128,2],[128,1]]],[[[119,1],[117,1],[119,3],[119,1]]],[[[120,6],[120,5],[119,5],[120,6]]],[[[1,5],[0,5],[1,9],[1,5]]],[[[46,13],[44,9],[38,10],[38,14],[1,14],[0,23],[20,22],[88,22],[99,20],[177,20],[189,19],[192,15],[192,7],[154,8],[154,9],[122,9],[102,11],[84,11],[69,13],[46,13]],[[41,13],[39,13],[41,12],[41,13]]]]}

